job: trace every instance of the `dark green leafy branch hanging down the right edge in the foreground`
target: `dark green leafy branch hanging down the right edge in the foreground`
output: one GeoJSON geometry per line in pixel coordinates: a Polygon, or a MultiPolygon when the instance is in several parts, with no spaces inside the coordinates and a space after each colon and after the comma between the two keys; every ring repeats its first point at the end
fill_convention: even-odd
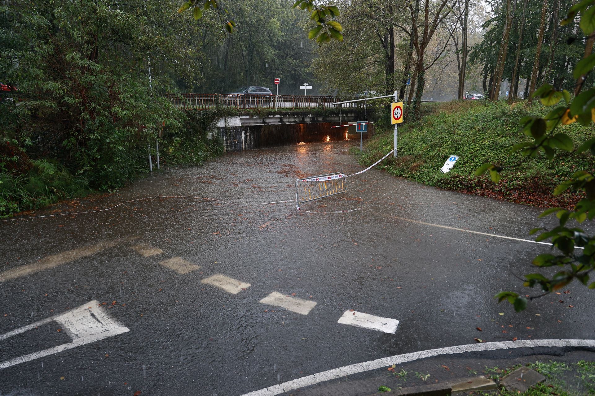
{"type": "MultiPolygon", "coordinates": [[[[555,156],[555,149],[563,151],[574,150],[574,142],[568,135],[558,132],[560,125],[568,125],[579,122],[582,125],[590,125],[595,121],[595,88],[583,90],[586,77],[595,68],[595,54],[592,54],[593,42],[595,39],[595,0],[583,0],[574,5],[568,11],[568,16],[562,20],[562,26],[574,21],[580,14],[579,26],[585,34],[584,58],[577,63],[573,76],[577,80],[575,97],[571,100],[571,94],[566,91],[558,91],[550,84],[543,84],[538,88],[533,97],[539,97],[544,106],[557,106],[555,109],[541,117],[525,117],[520,120],[522,131],[531,138],[531,141],[522,142],[512,147],[511,153],[521,151],[525,158],[536,157],[543,153],[547,159],[552,160],[555,156]],[[582,91],[582,92],[581,92],[582,91]],[[560,102],[563,99],[561,105],[560,102]]],[[[577,148],[577,153],[590,150],[595,156],[595,138],[591,138],[577,148]]],[[[484,164],[477,169],[475,175],[490,172],[490,178],[494,183],[499,182],[502,168],[495,164],[484,164]]],[[[542,293],[536,296],[521,295],[515,292],[500,292],[496,294],[498,302],[504,300],[511,303],[516,312],[527,308],[529,300],[543,297],[556,290],[562,289],[573,280],[578,280],[589,289],[595,289],[595,281],[590,282],[591,271],[595,269],[595,236],[590,236],[583,229],[567,226],[571,220],[583,223],[585,220],[593,220],[595,217],[595,176],[588,170],[579,170],[572,175],[571,179],[560,183],[553,191],[553,195],[562,194],[567,189],[572,189],[575,194],[585,195],[573,210],[562,208],[549,208],[540,214],[540,217],[556,214],[559,226],[545,230],[541,228],[531,230],[533,235],[543,231],[537,236],[536,241],[551,239],[552,249],[557,249],[559,254],[541,254],[533,259],[533,265],[540,268],[558,266],[562,270],[552,277],[535,273],[526,274],[523,286],[539,286],[542,293]]]]}

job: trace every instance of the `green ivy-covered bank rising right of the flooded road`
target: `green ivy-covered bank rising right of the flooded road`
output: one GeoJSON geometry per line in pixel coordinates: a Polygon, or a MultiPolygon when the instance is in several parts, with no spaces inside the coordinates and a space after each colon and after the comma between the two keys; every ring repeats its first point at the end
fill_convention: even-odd
{"type": "MultiPolygon", "coordinates": [[[[430,186],[506,199],[538,207],[570,208],[583,197],[577,191],[567,191],[554,197],[553,189],[579,169],[595,170],[590,153],[556,150],[553,160],[543,154],[525,159],[511,147],[530,141],[522,131],[519,119],[528,115],[545,115],[547,107],[534,103],[493,103],[460,101],[427,104],[422,107],[418,122],[399,125],[398,157],[389,157],[383,167],[394,176],[402,176],[430,186]],[[449,156],[460,156],[448,173],[440,169],[449,156]],[[500,183],[489,176],[475,176],[482,164],[489,162],[503,168],[500,183]]],[[[376,135],[368,140],[361,154],[362,164],[372,164],[381,154],[393,148],[393,126],[388,114],[378,114],[376,135]]],[[[560,126],[572,140],[591,138],[595,126],[580,123],[560,126]]]]}

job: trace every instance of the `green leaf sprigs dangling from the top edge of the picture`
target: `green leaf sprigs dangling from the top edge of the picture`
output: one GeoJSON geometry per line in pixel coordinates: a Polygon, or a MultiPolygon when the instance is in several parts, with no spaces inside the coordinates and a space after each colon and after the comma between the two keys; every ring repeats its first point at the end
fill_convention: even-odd
{"type": "MultiPolygon", "coordinates": [[[[319,44],[330,42],[331,39],[343,41],[343,33],[341,33],[343,27],[339,22],[333,20],[333,18],[339,16],[339,8],[334,5],[318,5],[315,4],[314,0],[297,0],[293,4],[293,8],[296,7],[311,12],[310,19],[316,23],[316,26],[308,32],[309,39],[316,39],[319,44]]],[[[206,11],[209,8],[217,10],[221,23],[223,23],[217,0],[188,0],[181,5],[178,12],[181,13],[187,9],[192,9],[194,19],[198,21],[202,18],[203,10],[206,11]]],[[[223,11],[227,14],[226,9],[223,11]]],[[[224,26],[228,33],[233,33],[236,23],[229,20],[225,22],[224,26]]]]}

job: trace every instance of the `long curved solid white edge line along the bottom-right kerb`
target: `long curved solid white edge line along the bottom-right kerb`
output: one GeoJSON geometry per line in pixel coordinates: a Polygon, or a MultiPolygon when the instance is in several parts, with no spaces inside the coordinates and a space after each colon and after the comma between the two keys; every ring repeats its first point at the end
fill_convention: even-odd
{"type": "Polygon", "coordinates": [[[369,360],[368,362],[364,363],[356,363],[355,365],[343,366],[337,369],[323,371],[302,378],[293,379],[292,381],[283,382],[283,384],[273,385],[272,387],[249,392],[242,396],[280,395],[285,392],[293,391],[297,388],[308,387],[309,385],[318,384],[320,382],[329,381],[331,379],[342,378],[347,375],[352,375],[374,369],[380,369],[392,365],[399,365],[400,363],[412,362],[414,360],[425,359],[426,357],[439,356],[442,354],[537,347],[595,347],[595,340],[498,341],[494,343],[467,344],[439,349],[428,349],[425,351],[383,357],[382,359],[369,360]]]}

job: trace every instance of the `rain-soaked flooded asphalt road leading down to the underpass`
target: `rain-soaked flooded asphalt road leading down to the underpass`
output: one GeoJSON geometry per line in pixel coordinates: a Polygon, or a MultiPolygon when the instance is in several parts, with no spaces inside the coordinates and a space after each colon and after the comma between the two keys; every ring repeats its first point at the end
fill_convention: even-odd
{"type": "MultiPolygon", "coordinates": [[[[195,198],[0,222],[0,337],[92,300],[129,329],[0,369],[0,395],[242,395],[474,338],[595,338],[593,300],[577,284],[521,314],[494,300],[502,289],[538,294],[517,277],[534,272],[531,259],[548,246],[399,219],[531,239],[529,229],[555,224],[537,218],[537,208],[443,191],[378,169],[347,179],[340,199],[302,206],[357,211],[253,205],[295,198],[296,178],[361,170],[352,146],[336,141],[227,153],[36,215],[142,197],[195,198]],[[77,258],[98,243],[107,247],[77,258]],[[136,245],[162,252],[143,256],[136,245]],[[79,253],[64,254],[73,249],[79,253]],[[36,263],[60,262],[48,256],[69,259],[38,270],[36,263]],[[170,258],[200,268],[179,273],[160,264],[170,258]],[[29,270],[3,280],[21,267],[29,270]],[[250,286],[231,294],[201,282],[214,274],[250,286]],[[317,305],[302,315],[259,302],[271,292],[317,305]],[[399,320],[396,334],[337,323],[349,309],[399,320]]],[[[70,343],[59,328],[53,321],[0,339],[0,364],[70,343]]]]}

